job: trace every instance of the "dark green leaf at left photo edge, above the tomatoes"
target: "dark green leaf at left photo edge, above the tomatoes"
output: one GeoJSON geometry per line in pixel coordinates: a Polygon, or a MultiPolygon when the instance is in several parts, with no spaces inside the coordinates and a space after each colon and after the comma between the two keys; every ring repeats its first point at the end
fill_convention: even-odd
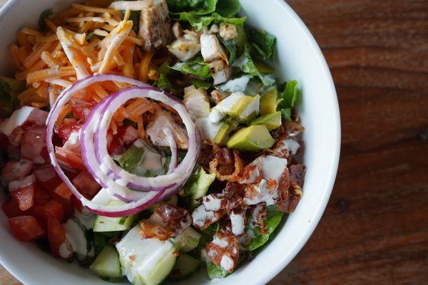
{"type": "Polygon", "coordinates": [[[24,81],[0,76],[0,111],[1,117],[9,116],[19,106],[18,95],[25,90],[24,81]]]}

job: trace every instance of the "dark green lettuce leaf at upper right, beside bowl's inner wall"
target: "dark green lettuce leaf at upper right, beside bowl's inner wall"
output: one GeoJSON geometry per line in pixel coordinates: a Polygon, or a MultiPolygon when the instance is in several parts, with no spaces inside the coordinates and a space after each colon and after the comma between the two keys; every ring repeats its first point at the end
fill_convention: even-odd
{"type": "Polygon", "coordinates": [[[250,53],[258,58],[271,59],[275,55],[276,38],[266,31],[248,30],[250,53]]]}

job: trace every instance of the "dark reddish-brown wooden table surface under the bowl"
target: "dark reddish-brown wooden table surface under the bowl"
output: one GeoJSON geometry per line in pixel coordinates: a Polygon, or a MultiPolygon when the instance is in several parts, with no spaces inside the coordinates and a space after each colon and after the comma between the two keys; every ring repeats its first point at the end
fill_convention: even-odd
{"type": "Polygon", "coordinates": [[[270,284],[428,284],[428,0],[287,2],[331,68],[342,155],[315,233],[270,284]]]}

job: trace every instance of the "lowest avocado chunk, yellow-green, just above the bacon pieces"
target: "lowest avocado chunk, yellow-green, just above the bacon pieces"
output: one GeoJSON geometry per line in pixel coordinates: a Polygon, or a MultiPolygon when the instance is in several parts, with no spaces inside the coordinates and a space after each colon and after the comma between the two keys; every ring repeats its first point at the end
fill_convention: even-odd
{"type": "Polygon", "coordinates": [[[272,147],[275,140],[265,125],[251,125],[238,130],[226,144],[229,148],[246,151],[259,151],[272,147]]]}

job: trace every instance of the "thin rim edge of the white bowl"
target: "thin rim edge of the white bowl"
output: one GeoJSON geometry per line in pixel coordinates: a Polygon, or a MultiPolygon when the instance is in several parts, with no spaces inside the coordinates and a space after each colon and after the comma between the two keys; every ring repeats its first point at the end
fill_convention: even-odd
{"type": "MultiPolygon", "coordinates": [[[[13,6],[21,0],[9,0],[4,4],[4,6],[0,9],[0,18],[3,18],[5,14],[7,14],[11,9],[13,9],[13,6]]],[[[327,61],[325,60],[325,57],[321,51],[320,46],[318,46],[317,42],[315,41],[314,36],[312,36],[312,33],[310,33],[309,28],[305,25],[305,23],[300,19],[300,17],[296,14],[296,12],[286,3],[285,0],[272,0],[275,1],[276,4],[278,4],[282,11],[284,11],[285,14],[289,15],[292,19],[292,21],[297,24],[297,26],[300,28],[300,32],[305,36],[308,43],[310,44],[310,48],[313,52],[317,54],[317,61],[318,64],[322,67],[323,73],[321,74],[325,78],[325,82],[327,83],[328,87],[328,93],[332,97],[332,116],[334,118],[334,122],[332,125],[332,133],[335,135],[334,142],[335,144],[332,145],[332,155],[331,155],[331,164],[328,166],[328,181],[326,185],[324,186],[324,191],[322,195],[322,199],[318,203],[318,209],[316,210],[316,214],[312,219],[312,222],[310,223],[310,226],[307,227],[307,230],[304,234],[302,234],[302,238],[299,242],[295,245],[294,248],[288,254],[286,254],[282,259],[276,262],[273,266],[270,266],[270,269],[265,270],[264,276],[261,277],[258,282],[260,284],[266,284],[268,281],[273,279],[277,274],[282,271],[282,269],[285,269],[285,266],[292,261],[296,257],[296,255],[300,252],[302,247],[305,246],[307,240],[312,236],[312,233],[315,231],[315,228],[317,227],[318,223],[320,222],[320,219],[322,217],[322,214],[325,211],[325,208],[327,207],[327,203],[330,199],[330,195],[332,193],[335,179],[337,176],[337,169],[339,166],[339,160],[340,160],[340,144],[341,144],[341,121],[340,121],[340,109],[339,109],[339,103],[337,100],[337,93],[335,89],[335,83],[332,79],[332,75],[330,72],[330,68],[327,65],[327,61]]],[[[0,264],[4,266],[4,268],[9,271],[16,279],[21,281],[24,284],[31,284],[31,276],[26,276],[26,274],[22,274],[22,271],[19,270],[18,266],[12,266],[9,264],[9,262],[4,259],[0,254],[0,264]]]]}

